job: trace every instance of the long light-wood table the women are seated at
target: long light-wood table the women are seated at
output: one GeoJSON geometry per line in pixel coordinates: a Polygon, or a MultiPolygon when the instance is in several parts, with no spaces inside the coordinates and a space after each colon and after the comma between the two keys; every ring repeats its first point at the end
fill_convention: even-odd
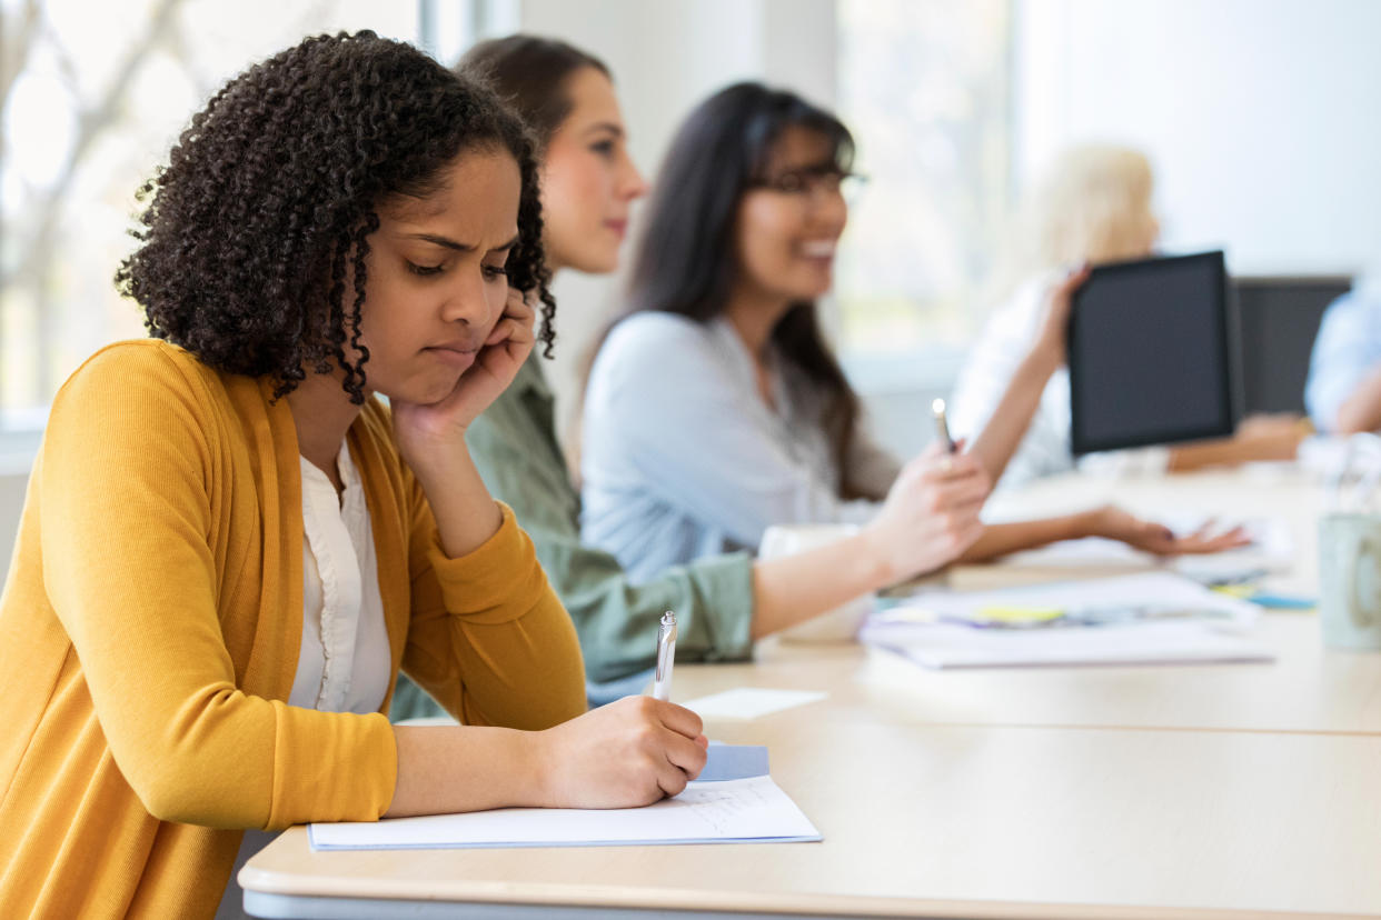
{"type": "MultiPolygon", "coordinates": [[[[1179,506],[1261,498],[1233,477],[1171,486],[1190,495],[1179,506]]],[[[1161,487],[1119,498],[1155,502],[1161,487]]],[[[1306,491],[1280,492],[1306,559],[1290,578],[1312,590],[1306,491]]],[[[823,843],[311,852],[298,828],[250,861],[246,903],[342,917],[1381,916],[1381,655],[1323,651],[1312,615],[1269,615],[1264,632],[1273,665],[950,673],[769,643],[755,663],[678,668],[675,695],[827,690],[707,723],[769,746],[823,843]]]]}

